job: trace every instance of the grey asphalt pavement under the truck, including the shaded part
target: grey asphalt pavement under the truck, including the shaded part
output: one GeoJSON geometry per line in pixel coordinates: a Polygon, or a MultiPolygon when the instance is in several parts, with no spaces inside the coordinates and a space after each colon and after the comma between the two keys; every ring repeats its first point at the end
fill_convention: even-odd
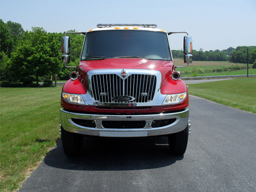
{"type": "Polygon", "coordinates": [[[87,138],[75,158],[59,143],[19,192],[255,192],[256,114],[190,96],[190,119],[184,156],[164,137],[87,138]]]}

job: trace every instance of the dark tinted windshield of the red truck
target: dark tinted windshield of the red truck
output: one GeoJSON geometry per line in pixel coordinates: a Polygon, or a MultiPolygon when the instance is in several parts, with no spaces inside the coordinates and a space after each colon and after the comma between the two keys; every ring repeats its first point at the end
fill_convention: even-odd
{"type": "Polygon", "coordinates": [[[82,60],[146,58],[171,60],[168,36],[163,32],[104,30],[86,34],[82,60]]]}

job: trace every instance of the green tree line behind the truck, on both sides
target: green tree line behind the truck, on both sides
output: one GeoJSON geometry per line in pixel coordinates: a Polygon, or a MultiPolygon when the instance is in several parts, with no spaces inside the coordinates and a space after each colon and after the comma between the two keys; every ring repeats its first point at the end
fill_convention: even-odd
{"type": "MultiPolygon", "coordinates": [[[[75,31],[75,30],[70,30],[75,31]]],[[[42,27],[24,31],[22,25],[0,19],[0,81],[31,85],[41,81],[51,84],[57,74],[58,80],[69,79],[73,70],[61,63],[61,38],[63,33],[48,33],[42,27]]],[[[83,46],[84,35],[69,34],[71,37],[71,63],[77,66],[83,46]]],[[[172,50],[174,58],[183,58],[182,50],[172,50]]],[[[193,60],[247,62],[247,47],[225,50],[193,50],[193,60]]],[[[255,63],[256,46],[249,47],[249,63],[255,63]]]]}

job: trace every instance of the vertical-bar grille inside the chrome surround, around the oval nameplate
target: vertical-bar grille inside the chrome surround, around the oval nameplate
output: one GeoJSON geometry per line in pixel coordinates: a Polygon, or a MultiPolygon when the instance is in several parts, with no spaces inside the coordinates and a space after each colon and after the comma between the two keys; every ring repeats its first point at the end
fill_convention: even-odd
{"type": "Polygon", "coordinates": [[[103,103],[146,103],[153,100],[157,78],[155,75],[131,74],[122,79],[117,74],[92,75],[93,97],[103,103]],[[133,101],[116,101],[114,96],[131,96],[133,101]]]}

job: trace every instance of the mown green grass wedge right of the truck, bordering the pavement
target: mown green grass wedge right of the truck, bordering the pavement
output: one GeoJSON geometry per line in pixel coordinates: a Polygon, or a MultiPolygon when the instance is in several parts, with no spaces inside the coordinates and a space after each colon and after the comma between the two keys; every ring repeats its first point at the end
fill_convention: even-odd
{"type": "Polygon", "coordinates": [[[189,84],[189,94],[256,113],[256,77],[189,84]]]}

